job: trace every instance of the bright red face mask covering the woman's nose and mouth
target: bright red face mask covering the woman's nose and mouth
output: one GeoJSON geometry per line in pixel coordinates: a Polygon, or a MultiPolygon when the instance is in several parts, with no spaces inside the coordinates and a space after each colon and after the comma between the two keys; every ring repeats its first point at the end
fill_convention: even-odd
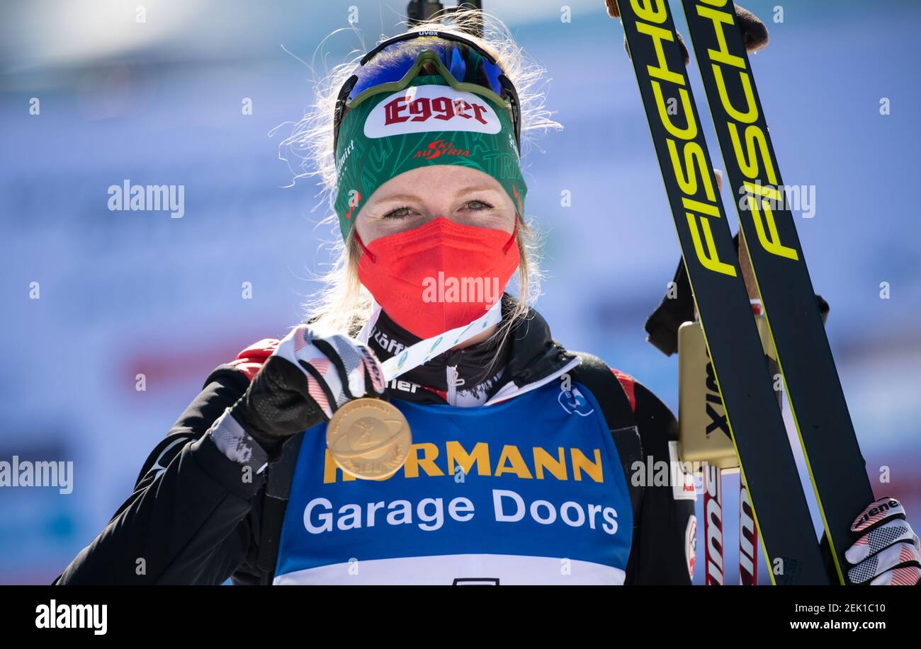
{"type": "Polygon", "coordinates": [[[358,279],[391,319],[420,338],[470,324],[502,296],[519,265],[515,232],[462,226],[439,216],[381,237],[362,255],[358,279]]]}

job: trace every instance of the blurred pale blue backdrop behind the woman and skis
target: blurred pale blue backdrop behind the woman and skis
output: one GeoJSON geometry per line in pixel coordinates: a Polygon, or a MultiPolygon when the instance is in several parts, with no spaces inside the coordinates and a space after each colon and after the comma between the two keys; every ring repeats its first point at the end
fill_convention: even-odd
{"type": "MultiPolygon", "coordinates": [[[[599,353],[677,410],[676,358],[645,342],[643,322],[679,248],[623,30],[600,0],[570,2],[569,23],[546,0],[485,5],[546,67],[547,104],[565,125],[525,159],[526,212],[546,234],[538,308],[559,341],[599,353]]],[[[743,5],[771,33],[752,65],[783,177],[816,188],[799,235],[832,306],[828,334],[869,475],[919,528],[921,238],[905,193],[917,184],[921,6],[787,3],[774,22],[774,0],[743,5]],[[880,115],[881,98],[891,115],[880,115]],[[881,467],[891,483],[880,483],[881,467]]],[[[268,133],[299,119],[324,64],[397,33],[405,2],[144,7],[143,23],[134,3],[0,7],[0,459],[73,460],[76,472],[68,495],[0,488],[0,583],[50,582],[131,492],[210,370],[299,321],[332,233],[315,227],[326,210],[312,181],[284,188],[292,172],[278,144],[289,129],[268,133]],[[350,6],[360,38],[347,29],[315,52],[349,28],[350,6]],[[314,70],[298,60],[315,53],[314,70]],[[108,187],[124,179],[184,185],[184,216],[110,211],[108,187]],[[252,299],[241,298],[244,282],[252,299]],[[146,391],[135,390],[139,373],[146,391]]],[[[724,488],[735,583],[738,478],[724,488]]],[[[699,542],[698,582],[703,564],[699,542]]]]}

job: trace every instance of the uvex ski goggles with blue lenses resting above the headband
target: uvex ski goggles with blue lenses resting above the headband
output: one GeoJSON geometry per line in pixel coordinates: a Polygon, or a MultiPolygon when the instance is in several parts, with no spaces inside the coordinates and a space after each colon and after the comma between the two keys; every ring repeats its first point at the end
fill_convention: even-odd
{"type": "Polygon", "coordinates": [[[333,151],[346,109],[369,97],[409,86],[426,63],[432,64],[451,87],[492,99],[511,111],[515,143],[521,151],[521,115],[518,92],[489,52],[456,34],[412,31],[380,43],[367,52],[354,75],[344,83],[333,116],[333,151]],[[394,47],[404,41],[411,46],[394,47]]]}

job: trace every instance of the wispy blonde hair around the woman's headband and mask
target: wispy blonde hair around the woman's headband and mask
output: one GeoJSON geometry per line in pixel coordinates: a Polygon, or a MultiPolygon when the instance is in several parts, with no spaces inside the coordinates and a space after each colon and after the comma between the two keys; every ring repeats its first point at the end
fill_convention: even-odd
{"type": "MultiPolygon", "coordinates": [[[[424,29],[459,34],[494,56],[518,91],[522,156],[530,149],[530,138],[534,133],[563,128],[560,123],[551,119],[553,113],[544,108],[543,93],[536,87],[538,82],[542,81],[543,68],[526,57],[507,26],[497,17],[478,11],[458,11],[452,15],[451,24],[442,24],[434,17],[410,27],[407,32],[424,29]],[[469,30],[476,25],[478,19],[483,21],[482,38],[473,36],[469,30]]],[[[322,219],[319,225],[331,226],[333,239],[329,244],[335,261],[329,272],[317,278],[323,284],[321,290],[303,305],[306,321],[321,331],[346,331],[352,335],[360,330],[371,315],[371,296],[358,281],[357,266],[361,250],[355,238],[355,228],[349,233],[348,238],[343,240],[339,232],[338,218],[332,211],[336,190],[332,116],[339,89],[354,73],[363,55],[364,52],[356,53],[350,61],[334,66],[315,83],[314,103],[309,106],[304,117],[293,125],[291,134],[279,145],[280,158],[288,161],[290,153],[300,161],[297,168],[293,169],[295,179],[317,177],[321,185],[321,202],[325,197],[330,207],[330,214],[322,219]]],[[[521,260],[517,272],[518,296],[515,298],[511,317],[496,331],[494,339],[506,335],[519,319],[524,318],[530,304],[540,295],[541,242],[533,225],[524,215],[518,214],[517,218],[521,260]]]]}

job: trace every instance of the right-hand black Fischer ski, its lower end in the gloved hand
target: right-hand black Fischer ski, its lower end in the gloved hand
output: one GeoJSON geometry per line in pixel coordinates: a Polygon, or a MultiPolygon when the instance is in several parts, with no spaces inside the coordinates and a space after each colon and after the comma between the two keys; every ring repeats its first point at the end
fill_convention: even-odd
{"type": "Polygon", "coordinates": [[[812,486],[845,584],[850,524],[874,499],[732,0],[682,0],[812,486]],[[747,197],[747,209],[739,200],[747,197]]]}

